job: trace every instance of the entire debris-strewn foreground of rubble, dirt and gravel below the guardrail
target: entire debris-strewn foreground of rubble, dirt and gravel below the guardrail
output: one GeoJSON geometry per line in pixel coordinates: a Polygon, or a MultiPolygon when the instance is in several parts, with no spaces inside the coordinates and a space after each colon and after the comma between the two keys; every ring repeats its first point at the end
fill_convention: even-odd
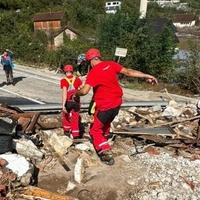
{"type": "Polygon", "coordinates": [[[199,199],[197,104],[122,108],[109,141],[114,166],[100,162],[92,119],[81,117],[83,139],[72,141],[60,114],[0,106],[0,199],[199,199]]]}

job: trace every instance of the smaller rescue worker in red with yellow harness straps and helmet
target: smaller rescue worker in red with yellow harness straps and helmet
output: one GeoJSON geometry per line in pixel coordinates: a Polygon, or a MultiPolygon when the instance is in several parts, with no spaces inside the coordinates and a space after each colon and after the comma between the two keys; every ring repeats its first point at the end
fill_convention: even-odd
{"type": "Polygon", "coordinates": [[[73,75],[73,66],[65,65],[63,68],[66,76],[60,81],[62,89],[62,126],[65,133],[70,133],[73,139],[80,137],[80,99],[74,94],[82,85],[82,81],[73,75]]]}

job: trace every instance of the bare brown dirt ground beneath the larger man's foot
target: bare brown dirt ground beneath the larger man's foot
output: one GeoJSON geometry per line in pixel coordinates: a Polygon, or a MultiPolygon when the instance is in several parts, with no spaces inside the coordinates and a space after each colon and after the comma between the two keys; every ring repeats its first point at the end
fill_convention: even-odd
{"type": "Polygon", "coordinates": [[[74,191],[67,192],[68,181],[74,182],[73,169],[66,172],[56,161],[54,166],[50,166],[53,162],[51,161],[49,166],[46,166],[49,169],[45,169],[39,174],[38,186],[52,192],[70,194],[80,200],[115,200],[119,199],[120,196],[121,199],[129,199],[129,193],[134,192],[137,188],[133,188],[127,181],[133,177],[134,179],[141,177],[145,171],[145,168],[141,168],[129,159],[128,149],[132,145],[131,139],[119,138],[115,140],[113,145],[115,164],[113,166],[100,162],[94,152],[81,153],[72,150],[70,155],[66,155],[68,163],[70,163],[70,156],[76,158],[81,155],[85,161],[84,177],[81,184],[77,184],[74,191]]]}

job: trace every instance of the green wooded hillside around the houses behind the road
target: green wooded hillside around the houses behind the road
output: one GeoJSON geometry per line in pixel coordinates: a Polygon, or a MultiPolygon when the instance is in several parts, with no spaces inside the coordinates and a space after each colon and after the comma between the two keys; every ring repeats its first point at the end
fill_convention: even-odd
{"type": "MultiPolygon", "coordinates": [[[[0,50],[9,48],[19,61],[55,69],[65,63],[76,65],[77,56],[91,46],[100,48],[108,59],[116,59],[117,46],[124,47],[128,54],[121,59],[122,64],[171,80],[177,45],[174,30],[168,20],[162,22],[160,31],[153,26],[155,20],[170,18],[176,10],[151,4],[147,20],[139,20],[139,3],[123,0],[120,12],[107,15],[105,0],[0,0],[0,50]],[[49,37],[43,31],[34,31],[33,16],[55,11],[64,12],[63,26],[72,27],[82,36],[74,41],[65,38],[60,48],[49,51],[49,37]]],[[[190,7],[196,11],[199,3],[190,1],[190,7]]]]}

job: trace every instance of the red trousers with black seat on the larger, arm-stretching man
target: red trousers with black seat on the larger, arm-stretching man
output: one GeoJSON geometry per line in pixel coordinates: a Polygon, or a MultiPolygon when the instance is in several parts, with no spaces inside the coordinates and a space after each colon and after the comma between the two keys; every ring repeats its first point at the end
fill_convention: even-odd
{"type": "Polygon", "coordinates": [[[90,136],[97,153],[111,149],[108,144],[108,136],[110,134],[110,124],[119,112],[119,106],[106,111],[96,110],[94,113],[94,121],[90,127],[90,136]]]}

